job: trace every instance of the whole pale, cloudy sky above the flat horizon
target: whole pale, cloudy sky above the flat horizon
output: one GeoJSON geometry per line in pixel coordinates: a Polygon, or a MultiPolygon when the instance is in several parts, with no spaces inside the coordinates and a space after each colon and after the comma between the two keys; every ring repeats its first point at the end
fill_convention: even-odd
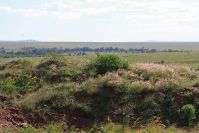
{"type": "Polygon", "coordinates": [[[0,40],[199,41],[199,0],[0,0],[0,40]]]}

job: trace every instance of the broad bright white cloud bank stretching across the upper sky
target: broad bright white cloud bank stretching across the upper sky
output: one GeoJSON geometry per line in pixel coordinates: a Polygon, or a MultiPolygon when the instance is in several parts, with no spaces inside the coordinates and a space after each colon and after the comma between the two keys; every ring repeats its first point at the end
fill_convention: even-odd
{"type": "Polygon", "coordinates": [[[38,9],[0,7],[0,13],[26,16],[54,16],[78,19],[85,16],[109,16],[138,24],[178,24],[199,21],[199,2],[194,0],[47,0],[38,9]],[[119,14],[122,16],[119,16],[119,14]]]}

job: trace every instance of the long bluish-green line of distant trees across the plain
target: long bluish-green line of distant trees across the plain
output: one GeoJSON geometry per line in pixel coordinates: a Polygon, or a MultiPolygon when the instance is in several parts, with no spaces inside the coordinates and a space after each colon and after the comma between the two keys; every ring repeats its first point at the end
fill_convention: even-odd
{"type": "Polygon", "coordinates": [[[157,50],[157,49],[149,49],[145,47],[141,48],[117,48],[117,47],[101,47],[101,48],[90,48],[90,47],[82,47],[82,48],[36,48],[36,47],[23,47],[18,50],[5,49],[0,48],[0,57],[34,57],[34,56],[44,56],[48,53],[59,53],[66,54],[69,56],[80,56],[86,55],[88,53],[98,53],[98,52],[117,52],[117,53],[153,53],[153,52],[185,52],[183,50],[157,50]]]}

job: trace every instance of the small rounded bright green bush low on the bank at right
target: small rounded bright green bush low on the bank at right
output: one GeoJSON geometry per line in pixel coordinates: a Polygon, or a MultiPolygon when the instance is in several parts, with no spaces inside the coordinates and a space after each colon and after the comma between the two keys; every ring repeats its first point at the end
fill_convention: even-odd
{"type": "Polygon", "coordinates": [[[184,105],[180,110],[180,116],[185,126],[192,126],[193,120],[196,119],[196,109],[191,104],[184,105]]]}

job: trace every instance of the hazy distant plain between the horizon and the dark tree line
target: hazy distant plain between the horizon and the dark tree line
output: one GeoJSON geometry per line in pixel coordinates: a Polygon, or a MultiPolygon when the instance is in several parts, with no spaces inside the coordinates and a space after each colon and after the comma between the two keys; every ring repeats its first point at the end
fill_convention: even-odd
{"type": "Polygon", "coordinates": [[[118,48],[149,48],[149,49],[175,49],[175,50],[199,50],[199,42],[1,42],[0,47],[19,49],[22,47],[37,48],[77,48],[77,47],[118,47],[118,48]]]}

